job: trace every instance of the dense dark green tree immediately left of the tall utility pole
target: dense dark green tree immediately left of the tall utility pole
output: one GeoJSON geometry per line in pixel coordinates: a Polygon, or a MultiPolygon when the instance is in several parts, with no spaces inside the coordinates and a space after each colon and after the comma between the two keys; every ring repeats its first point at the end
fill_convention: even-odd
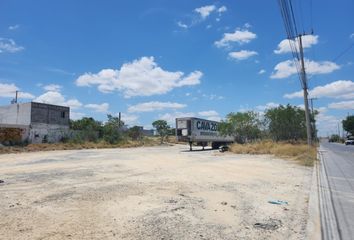
{"type": "Polygon", "coordinates": [[[305,111],[291,105],[280,105],[265,112],[270,136],[276,140],[306,139],[305,111]]]}

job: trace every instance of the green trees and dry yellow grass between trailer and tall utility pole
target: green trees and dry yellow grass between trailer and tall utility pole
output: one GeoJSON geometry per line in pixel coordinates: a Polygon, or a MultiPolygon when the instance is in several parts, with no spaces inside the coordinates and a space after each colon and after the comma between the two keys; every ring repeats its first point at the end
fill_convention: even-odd
{"type": "MultiPolygon", "coordinates": [[[[314,116],[311,123],[315,123],[314,116]]],[[[262,116],[253,111],[230,113],[219,130],[234,137],[235,144],[230,147],[233,153],[272,154],[304,166],[313,166],[317,158],[316,144],[306,144],[304,110],[296,106],[280,105],[266,110],[262,116]]],[[[312,136],[316,143],[314,130],[312,136]]]]}

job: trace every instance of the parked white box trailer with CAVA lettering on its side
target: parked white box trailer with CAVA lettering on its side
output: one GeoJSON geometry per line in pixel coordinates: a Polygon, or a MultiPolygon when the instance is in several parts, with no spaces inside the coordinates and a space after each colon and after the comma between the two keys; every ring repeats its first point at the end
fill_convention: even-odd
{"type": "Polygon", "coordinates": [[[208,146],[213,149],[227,145],[234,141],[232,136],[222,136],[219,133],[219,122],[201,118],[176,118],[176,138],[177,141],[188,142],[192,151],[192,144],[208,146]]]}

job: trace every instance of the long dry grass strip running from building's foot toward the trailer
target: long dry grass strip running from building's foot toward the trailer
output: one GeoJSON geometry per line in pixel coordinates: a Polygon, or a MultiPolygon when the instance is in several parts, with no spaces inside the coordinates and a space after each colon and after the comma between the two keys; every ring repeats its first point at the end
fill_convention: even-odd
{"type": "Polygon", "coordinates": [[[109,144],[105,141],[85,142],[85,143],[40,143],[40,144],[29,144],[25,147],[21,147],[21,146],[0,147],[0,154],[55,151],[55,150],[73,150],[73,149],[131,148],[131,147],[142,147],[142,146],[156,146],[158,144],[160,144],[160,140],[159,138],[156,137],[145,137],[140,141],[129,140],[117,144],[109,144]]]}

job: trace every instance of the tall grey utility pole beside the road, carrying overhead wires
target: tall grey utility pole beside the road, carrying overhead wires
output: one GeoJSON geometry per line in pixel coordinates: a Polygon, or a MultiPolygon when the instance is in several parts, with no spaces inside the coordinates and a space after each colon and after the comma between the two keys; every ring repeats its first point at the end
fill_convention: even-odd
{"type": "Polygon", "coordinates": [[[304,49],[302,47],[302,35],[299,35],[299,47],[300,47],[300,60],[301,60],[301,81],[302,88],[304,91],[304,105],[305,105],[305,118],[306,118],[306,133],[307,133],[307,144],[310,146],[312,144],[312,134],[311,134],[311,123],[310,123],[310,113],[309,113],[309,101],[307,92],[307,77],[305,71],[304,62],[304,49]]]}

